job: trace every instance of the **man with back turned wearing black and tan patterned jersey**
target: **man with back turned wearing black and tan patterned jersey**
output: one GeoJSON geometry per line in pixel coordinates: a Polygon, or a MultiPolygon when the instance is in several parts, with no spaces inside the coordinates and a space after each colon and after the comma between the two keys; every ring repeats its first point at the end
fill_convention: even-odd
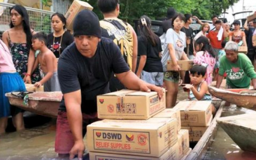
{"type": "MultiPolygon", "coordinates": [[[[104,16],[104,20],[99,22],[102,28],[102,37],[112,39],[120,47],[126,63],[135,72],[138,52],[137,36],[129,23],[117,18],[120,12],[118,2],[118,0],[98,0],[97,2],[99,10],[104,16]]],[[[109,87],[111,92],[125,88],[114,74],[110,79],[109,87]]]]}

